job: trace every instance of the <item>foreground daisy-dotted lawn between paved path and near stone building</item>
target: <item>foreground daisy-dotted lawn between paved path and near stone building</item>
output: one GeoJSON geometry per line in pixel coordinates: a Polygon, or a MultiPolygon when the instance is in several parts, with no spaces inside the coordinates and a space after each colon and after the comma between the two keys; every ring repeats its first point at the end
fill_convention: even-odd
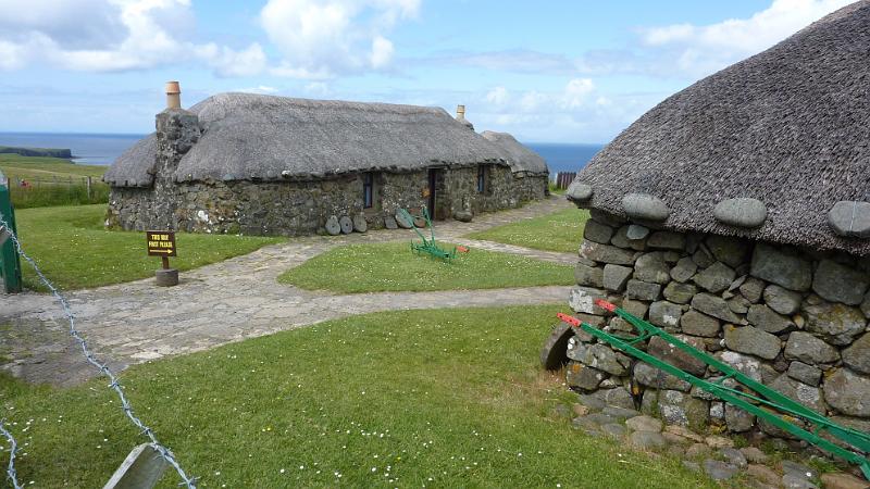
{"type": "MultiPolygon", "coordinates": [[[[572,398],[537,365],[557,311],[357,316],[135,366],[122,381],[202,488],[716,487],[551,414],[572,398]]],[[[0,377],[0,409],[34,487],[101,487],[142,442],[104,380],[60,390],[0,377]]],[[[176,487],[167,474],[160,487],[176,487]]]]}

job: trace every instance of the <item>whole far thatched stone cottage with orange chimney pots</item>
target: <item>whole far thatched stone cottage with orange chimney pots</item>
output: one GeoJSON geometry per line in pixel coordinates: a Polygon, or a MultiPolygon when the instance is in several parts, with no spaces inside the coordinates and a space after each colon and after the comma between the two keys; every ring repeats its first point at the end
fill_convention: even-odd
{"type": "Polygon", "coordinates": [[[111,226],[350,231],[391,227],[399,208],[470,220],[546,193],[546,163],[474,133],[464,109],[221,93],[186,111],[167,93],[157,131],[105,173],[111,226]]]}

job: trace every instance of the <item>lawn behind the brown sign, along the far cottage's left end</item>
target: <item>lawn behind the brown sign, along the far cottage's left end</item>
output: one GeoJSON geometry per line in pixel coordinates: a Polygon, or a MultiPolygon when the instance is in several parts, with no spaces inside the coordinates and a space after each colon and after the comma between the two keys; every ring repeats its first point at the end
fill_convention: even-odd
{"type": "MultiPolygon", "coordinates": [[[[160,259],[147,256],[145,233],[110,231],[102,226],[105,205],[24,209],[15,212],[25,251],[63,289],[97,287],[151,277],[160,259]]],[[[190,269],[282,238],[204,234],[176,235],[178,256],[172,266],[190,269]]],[[[25,286],[37,286],[30,266],[22,263],[25,286]]]]}

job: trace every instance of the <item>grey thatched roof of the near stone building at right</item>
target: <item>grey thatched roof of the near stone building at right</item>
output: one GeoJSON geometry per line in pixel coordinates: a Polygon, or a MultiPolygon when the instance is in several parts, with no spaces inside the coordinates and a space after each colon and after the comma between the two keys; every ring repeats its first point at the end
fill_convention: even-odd
{"type": "Polygon", "coordinates": [[[658,198],[670,210],[668,228],[867,254],[870,240],[835,235],[828,213],[838,201],[870,201],[868,124],[863,0],[668,98],[575,184],[593,190],[581,205],[620,215],[627,193],[658,198]],[[717,221],[717,204],[734,198],[762,202],[763,224],[717,221]]]}

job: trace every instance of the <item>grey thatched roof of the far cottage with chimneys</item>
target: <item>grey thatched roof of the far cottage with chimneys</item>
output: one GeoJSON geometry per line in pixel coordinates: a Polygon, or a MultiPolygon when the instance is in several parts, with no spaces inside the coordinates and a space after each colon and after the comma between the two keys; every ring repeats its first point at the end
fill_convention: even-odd
{"type": "MultiPolygon", "coordinates": [[[[443,109],[221,93],[190,108],[202,136],[176,179],[313,179],[348,172],[507,164],[502,149],[443,109]]],[[[104,179],[150,186],[154,136],[119,158],[104,179]]]]}

